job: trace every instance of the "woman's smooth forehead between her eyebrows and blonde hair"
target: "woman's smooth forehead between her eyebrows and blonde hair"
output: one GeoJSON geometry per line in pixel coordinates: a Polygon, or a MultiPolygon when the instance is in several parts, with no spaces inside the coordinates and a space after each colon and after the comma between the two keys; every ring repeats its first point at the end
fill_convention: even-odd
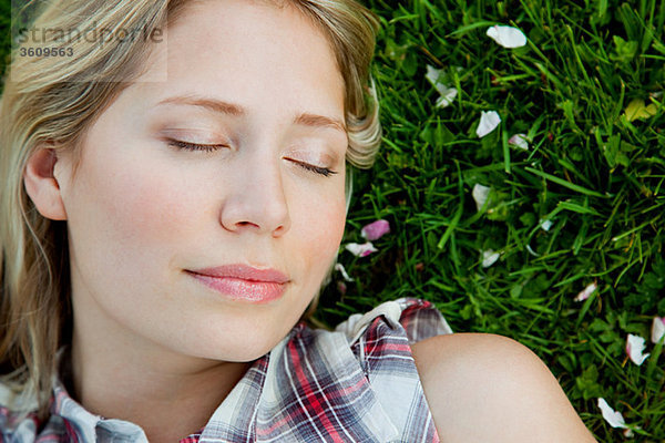
{"type": "Polygon", "coordinates": [[[167,59],[163,90],[224,93],[249,107],[257,103],[244,100],[344,110],[344,80],[327,37],[288,2],[195,1],[172,20],[166,42],[152,55],[167,59]]]}

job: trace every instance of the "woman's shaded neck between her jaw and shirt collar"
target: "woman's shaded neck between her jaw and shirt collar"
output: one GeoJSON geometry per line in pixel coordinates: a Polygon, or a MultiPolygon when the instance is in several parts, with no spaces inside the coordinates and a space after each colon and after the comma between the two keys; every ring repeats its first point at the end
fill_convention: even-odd
{"type": "Polygon", "coordinates": [[[250,365],[99,343],[74,329],[72,396],[94,414],[140,425],[151,442],[204,427],[250,365]]]}

